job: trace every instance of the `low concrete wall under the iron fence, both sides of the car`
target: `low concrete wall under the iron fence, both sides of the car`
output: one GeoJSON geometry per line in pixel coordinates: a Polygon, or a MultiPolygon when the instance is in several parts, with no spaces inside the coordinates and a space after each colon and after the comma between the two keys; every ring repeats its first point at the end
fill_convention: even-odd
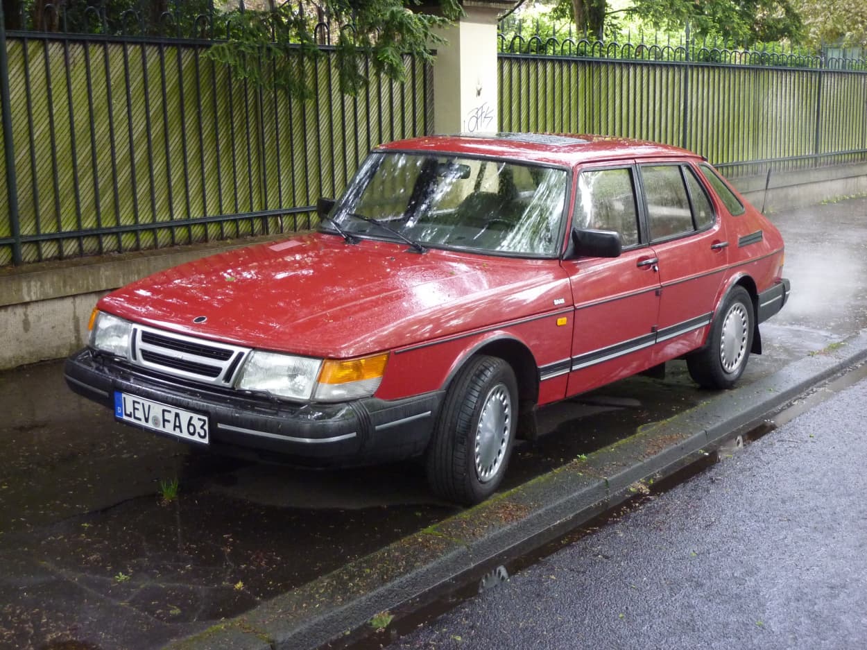
{"type": "MultiPolygon", "coordinates": [[[[762,205],[764,176],[739,179],[735,185],[753,205],[762,205]]],[[[766,211],[861,194],[867,194],[867,164],[775,173],[767,192],[766,211]]],[[[279,237],[0,270],[0,369],[56,359],[81,348],[95,302],[111,289],[179,263],[269,238],[279,237]]]]}

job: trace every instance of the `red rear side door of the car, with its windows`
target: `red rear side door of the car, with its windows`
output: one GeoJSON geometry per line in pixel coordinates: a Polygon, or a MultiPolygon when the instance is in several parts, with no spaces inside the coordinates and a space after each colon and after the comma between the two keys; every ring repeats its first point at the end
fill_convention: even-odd
{"type": "Polygon", "coordinates": [[[719,215],[692,167],[680,162],[638,166],[650,245],[661,296],[655,361],[701,345],[728,264],[719,215]]]}

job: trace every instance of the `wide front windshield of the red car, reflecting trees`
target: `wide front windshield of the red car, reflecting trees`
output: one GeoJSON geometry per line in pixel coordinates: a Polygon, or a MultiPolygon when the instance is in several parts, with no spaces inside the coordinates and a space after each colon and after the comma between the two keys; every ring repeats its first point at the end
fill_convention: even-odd
{"type": "Polygon", "coordinates": [[[362,237],[397,231],[422,245],[555,257],[566,179],[504,160],[372,153],[331,218],[362,237]]]}

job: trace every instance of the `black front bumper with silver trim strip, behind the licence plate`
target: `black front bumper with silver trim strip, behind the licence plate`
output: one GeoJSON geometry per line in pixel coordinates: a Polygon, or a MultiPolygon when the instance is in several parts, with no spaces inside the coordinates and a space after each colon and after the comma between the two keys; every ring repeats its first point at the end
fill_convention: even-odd
{"type": "Polygon", "coordinates": [[[427,447],[443,397],[435,392],[295,405],[143,374],[89,348],[68,358],[64,376],[75,393],[112,410],[114,392],[121,391],[206,415],[214,452],[303,465],[368,465],[417,456],[427,447]]]}

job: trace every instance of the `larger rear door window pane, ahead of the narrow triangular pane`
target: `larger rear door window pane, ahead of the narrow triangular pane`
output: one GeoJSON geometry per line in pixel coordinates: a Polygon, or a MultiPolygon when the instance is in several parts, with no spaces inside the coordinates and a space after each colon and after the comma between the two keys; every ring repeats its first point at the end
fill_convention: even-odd
{"type": "Polygon", "coordinates": [[[677,165],[642,165],[651,241],[694,231],[687,188],[677,165]]]}

